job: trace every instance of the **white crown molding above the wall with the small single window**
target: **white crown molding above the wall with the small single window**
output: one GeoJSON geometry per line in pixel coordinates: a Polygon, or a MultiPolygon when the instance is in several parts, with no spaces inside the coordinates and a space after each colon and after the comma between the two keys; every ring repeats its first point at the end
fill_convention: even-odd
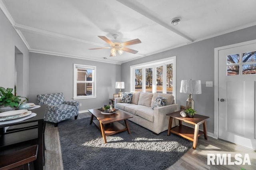
{"type": "Polygon", "coordinates": [[[122,64],[119,61],[106,61],[105,59],[92,59],[91,57],[88,57],[88,56],[71,55],[71,54],[45,51],[45,50],[39,50],[39,49],[29,49],[29,52],[31,52],[31,53],[41,53],[41,54],[47,54],[47,55],[55,55],[55,56],[60,56],[60,57],[84,59],[84,60],[97,61],[97,62],[102,62],[102,63],[122,64]]]}

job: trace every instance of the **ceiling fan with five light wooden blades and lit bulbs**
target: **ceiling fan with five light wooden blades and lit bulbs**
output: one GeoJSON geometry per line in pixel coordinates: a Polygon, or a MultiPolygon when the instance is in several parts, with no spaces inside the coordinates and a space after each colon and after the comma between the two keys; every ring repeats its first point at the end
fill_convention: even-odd
{"type": "MultiPolygon", "coordinates": [[[[114,37],[115,40],[118,37],[117,34],[114,34],[112,36],[114,37]]],[[[90,48],[90,49],[110,49],[111,48],[111,50],[110,50],[110,57],[116,56],[116,51],[118,51],[118,53],[120,55],[122,55],[122,53],[124,53],[124,51],[136,54],[136,53],[138,53],[138,51],[136,51],[134,49],[127,48],[126,46],[134,45],[134,44],[137,44],[137,43],[141,43],[141,41],[138,38],[134,39],[134,40],[130,40],[128,42],[118,43],[118,42],[110,41],[105,36],[98,36],[98,37],[101,38],[102,40],[104,40],[106,43],[110,44],[111,47],[99,47],[99,48],[90,48]]]]}

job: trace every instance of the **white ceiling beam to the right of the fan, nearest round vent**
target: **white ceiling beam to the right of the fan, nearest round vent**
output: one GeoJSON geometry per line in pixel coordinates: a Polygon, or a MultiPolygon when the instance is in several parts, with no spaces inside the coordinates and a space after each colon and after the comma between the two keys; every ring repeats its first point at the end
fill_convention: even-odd
{"type": "Polygon", "coordinates": [[[127,1],[127,0],[116,0],[118,2],[120,2],[121,4],[127,6],[128,8],[131,8],[132,10],[142,14],[143,16],[145,16],[146,18],[156,22],[157,24],[167,28],[168,30],[170,30],[171,32],[174,32],[175,34],[185,38],[186,40],[193,42],[194,40],[192,40],[191,38],[189,38],[188,36],[182,34],[181,32],[173,29],[169,24],[166,24],[165,22],[162,22],[161,20],[159,20],[159,18],[156,18],[154,15],[146,12],[143,8],[140,8],[138,4],[134,5],[131,2],[132,1],[127,1]]]}

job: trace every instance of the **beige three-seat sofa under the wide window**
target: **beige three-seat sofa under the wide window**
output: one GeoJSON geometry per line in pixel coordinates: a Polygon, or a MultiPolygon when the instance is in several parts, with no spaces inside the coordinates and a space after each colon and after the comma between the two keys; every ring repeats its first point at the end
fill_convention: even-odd
{"type": "MultiPolygon", "coordinates": [[[[121,103],[121,101],[121,97],[115,99],[116,109],[132,115],[130,121],[156,134],[168,129],[170,117],[166,114],[178,111],[178,104],[175,104],[174,96],[171,94],[133,92],[131,103],[121,103]],[[167,98],[166,105],[152,109],[158,96],[167,98]]],[[[172,127],[176,125],[177,122],[173,121],[172,127]]]]}

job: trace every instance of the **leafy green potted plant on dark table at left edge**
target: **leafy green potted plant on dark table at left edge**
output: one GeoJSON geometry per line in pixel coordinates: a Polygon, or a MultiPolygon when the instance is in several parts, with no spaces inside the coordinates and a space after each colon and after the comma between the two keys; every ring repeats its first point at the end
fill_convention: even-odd
{"type": "Polygon", "coordinates": [[[28,101],[26,97],[24,97],[25,100],[21,101],[21,96],[14,96],[12,90],[12,88],[0,87],[0,113],[15,110],[21,103],[28,101]]]}

